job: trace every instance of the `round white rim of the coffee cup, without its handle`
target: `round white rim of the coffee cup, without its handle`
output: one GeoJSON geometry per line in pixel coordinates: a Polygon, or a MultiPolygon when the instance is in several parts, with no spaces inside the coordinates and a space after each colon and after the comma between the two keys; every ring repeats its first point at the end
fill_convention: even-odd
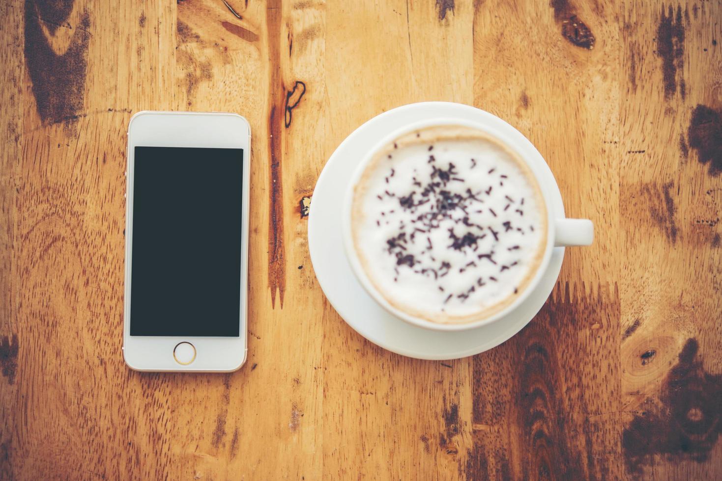
{"type": "MultiPolygon", "coordinates": [[[[511,125],[507,125],[504,128],[505,131],[516,131],[516,129],[513,128],[511,125]],[[511,129],[511,130],[510,130],[511,129]]],[[[519,135],[522,135],[519,133],[519,135]]],[[[531,145],[531,144],[530,144],[531,145]]],[[[541,157],[538,151],[534,149],[532,146],[531,151],[529,149],[526,149],[527,152],[525,153],[523,147],[526,146],[518,146],[513,142],[513,139],[510,138],[507,133],[505,133],[500,128],[495,128],[490,125],[485,125],[484,123],[475,122],[471,120],[461,119],[461,118],[435,118],[435,119],[427,119],[427,120],[419,120],[418,122],[409,123],[407,125],[404,125],[394,131],[391,131],[391,133],[388,133],[388,135],[384,136],[380,139],[376,144],[374,144],[372,149],[369,149],[367,154],[362,158],[361,162],[357,165],[355,168],[355,171],[353,172],[353,175],[351,177],[351,182],[349,182],[349,185],[347,187],[346,192],[344,193],[344,200],[343,200],[343,213],[344,216],[342,217],[342,242],[344,243],[344,251],[346,253],[347,261],[349,262],[349,265],[351,266],[351,270],[353,271],[354,275],[356,276],[357,280],[361,284],[361,286],[364,288],[364,290],[372,297],[372,299],[379,304],[383,309],[386,309],[387,312],[393,314],[396,317],[399,317],[399,319],[403,319],[406,322],[409,322],[409,324],[416,325],[419,327],[424,327],[425,329],[430,330],[438,330],[438,331],[463,331],[463,330],[470,330],[475,329],[477,327],[482,327],[484,325],[490,325],[493,322],[497,322],[500,319],[503,319],[503,317],[508,316],[511,312],[518,309],[518,306],[523,304],[526,299],[529,298],[531,293],[536,290],[539,286],[539,282],[541,281],[541,278],[544,277],[544,275],[547,272],[547,269],[549,268],[549,261],[552,257],[552,251],[554,250],[554,212],[552,211],[552,196],[551,193],[549,193],[547,186],[544,185],[542,182],[542,179],[544,178],[544,172],[539,168],[539,162],[544,162],[544,159],[541,157]],[[504,146],[506,146],[508,149],[511,149],[513,152],[515,152],[519,159],[521,159],[522,162],[524,162],[529,169],[531,170],[532,175],[534,175],[534,179],[536,180],[537,185],[539,185],[539,190],[541,190],[541,197],[544,200],[544,205],[546,206],[547,210],[547,242],[544,246],[544,255],[541,258],[541,262],[539,263],[539,267],[536,270],[536,273],[534,273],[534,277],[531,279],[531,282],[529,283],[529,286],[526,286],[526,288],[523,290],[520,296],[518,296],[517,299],[514,299],[508,306],[505,306],[505,308],[501,309],[499,312],[495,312],[494,314],[484,317],[482,319],[478,319],[476,321],[471,322],[464,322],[464,323],[448,323],[443,324],[439,322],[432,322],[428,319],[423,319],[417,316],[414,316],[412,314],[409,314],[407,312],[402,311],[401,309],[396,308],[396,306],[393,306],[390,302],[384,298],[380,292],[375,288],[373,283],[368,278],[365,270],[363,269],[361,265],[361,261],[359,259],[358,252],[356,251],[356,247],[353,242],[353,236],[352,236],[352,206],[353,206],[353,200],[354,200],[354,193],[355,193],[355,187],[360,181],[361,176],[365,172],[365,169],[368,165],[368,163],[373,159],[373,156],[378,152],[380,149],[383,149],[383,147],[390,144],[394,139],[399,138],[400,136],[403,136],[406,133],[411,133],[413,131],[420,130],[422,128],[430,128],[435,126],[444,126],[444,125],[460,125],[464,127],[469,128],[476,128],[479,131],[482,131],[484,133],[487,133],[488,135],[492,136],[493,138],[500,141],[504,146]],[[531,159],[530,159],[531,158],[531,159]]],[[[546,167],[546,166],[544,166],[546,167]]]]}

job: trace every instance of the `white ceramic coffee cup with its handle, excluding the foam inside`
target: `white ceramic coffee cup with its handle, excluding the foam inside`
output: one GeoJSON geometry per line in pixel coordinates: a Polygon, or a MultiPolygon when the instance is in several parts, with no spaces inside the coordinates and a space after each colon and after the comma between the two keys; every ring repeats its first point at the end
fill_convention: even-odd
{"type": "Polygon", "coordinates": [[[344,198],[344,216],[342,219],[343,242],[349,265],[351,265],[351,268],[356,277],[358,278],[358,281],[361,283],[363,288],[365,288],[367,293],[388,312],[391,312],[391,314],[393,314],[394,316],[399,317],[399,319],[404,319],[404,321],[409,322],[412,325],[441,331],[469,330],[474,329],[475,327],[496,322],[499,319],[502,319],[503,317],[511,314],[515,309],[518,308],[518,306],[523,303],[523,301],[525,301],[530,296],[532,292],[534,292],[536,288],[538,288],[541,278],[543,278],[544,275],[547,275],[549,259],[552,257],[552,250],[554,250],[554,247],[583,246],[591,244],[594,237],[594,229],[593,224],[590,220],[567,219],[565,217],[557,218],[555,216],[554,210],[552,209],[552,193],[554,192],[556,187],[550,187],[549,185],[544,184],[543,169],[547,169],[546,164],[544,164],[544,159],[541,158],[538,151],[536,151],[536,149],[534,149],[534,146],[531,146],[531,144],[518,145],[518,143],[515,143],[513,141],[514,134],[518,136],[518,132],[507,123],[503,123],[503,127],[499,128],[498,126],[491,127],[482,123],[470,122],[469,120],[462,120],[458,118],[439,118],[434,120],[424,120],[423,122],[404,125],[397,131],[389,133],[388,136],[382,138],[378,142],[378,144],[369,149],[367,154],[364,156],[364,158],[358,165],[356,171],[354,172],[354,175],[352,176],[352,181],[349,183],[349,187],[347,188],[344,198]],[[511,304],[509,304],[499,312],[496,312],[495,314],[487,317],[483,317],[476,321],[466,322],[463,324],[442,324],[438,322],[431,322],[427,319],[413,316],[391,305],[378,292],[378,290],[375,288],[375,286],[365,273],[352,237],[351,219],[355,187],[358,182],[360,182],[360,179],[362,177],[362,174],[365,172],[367,164],[371,161],[371,159],[373,159],[375,153],[390,144],[396,138],[404,135],[405,133],[410,133],[412,131],[418,131],[422,128],[430,128],[437,125],[462,125],[470,128],[476,128],[489,134],[490,136],[497,138],[498,141],[505,144],[505,146],[507,146],[509,149],[515,151],[520,156],[520,158],[523,159],[524,162],[526,162],[526,164],[529,166],[529,169],[531,169],[532,174],[534,175],[534,177],[536,177],[536,180],[539,183],[539,187],[541,189],[541,195],[544,198],[544,203],[547,206],[548,228],[544,256],[542,257],[542,260],[539,263],[539,267],[537,268],[536,273],[534,273],[534,276],[532,277],[529,286],[527,286],[527,288],[521,292],[517,299],[515,299],[511,304]],[[554,190],[552,190],[552,188],[554,188],[554,190]]]}

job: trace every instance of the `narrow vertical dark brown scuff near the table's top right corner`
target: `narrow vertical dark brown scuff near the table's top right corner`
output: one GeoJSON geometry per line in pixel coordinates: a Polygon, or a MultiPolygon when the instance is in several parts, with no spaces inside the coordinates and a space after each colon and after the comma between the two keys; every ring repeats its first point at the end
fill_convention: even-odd
{"type": "Polygon", "coordinates": [[[664,97],[669,99],[674,92],[677,92],[677,70],[682,71],[684,66],[684,25],[682,25],[681,6],[677,6],[676,16],[671,5],[667,9],[667,14],[664,14],[664,5],[662,6],[657,26],[656,54],[662,59],[664,97]]]}

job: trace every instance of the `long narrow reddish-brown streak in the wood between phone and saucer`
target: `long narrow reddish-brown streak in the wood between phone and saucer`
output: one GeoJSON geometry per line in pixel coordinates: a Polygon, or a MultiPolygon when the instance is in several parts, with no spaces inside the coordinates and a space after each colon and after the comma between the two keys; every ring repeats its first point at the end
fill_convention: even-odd
{"type": "Polygon", "coordinates": [[[276,294],[283,309],[286,288],[286,251],[283,243],[283,176],[281,119],[284,110],[283,94],[286,89],[281,81],[278,63],[281,59],[281,0],[269,0],[266,6],[266,30],[268,31],[269,60],[269,288],[271,307],[276,307],[276,294]]]}

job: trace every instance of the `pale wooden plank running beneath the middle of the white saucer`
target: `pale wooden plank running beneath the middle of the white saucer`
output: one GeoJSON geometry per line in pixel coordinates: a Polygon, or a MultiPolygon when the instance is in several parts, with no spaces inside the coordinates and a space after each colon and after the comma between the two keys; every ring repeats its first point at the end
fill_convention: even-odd
{"type": "MultiPolygon", "coordinates": [[[[472,4],[440,9],[432,1],[326,5],[321,163],[383,111],[424,100],[471,103],[472,4]]],[[[471,360],[393,355],[328,304],[323,327],[324,476],[457,479],[471,448],[471,360]]]]}

